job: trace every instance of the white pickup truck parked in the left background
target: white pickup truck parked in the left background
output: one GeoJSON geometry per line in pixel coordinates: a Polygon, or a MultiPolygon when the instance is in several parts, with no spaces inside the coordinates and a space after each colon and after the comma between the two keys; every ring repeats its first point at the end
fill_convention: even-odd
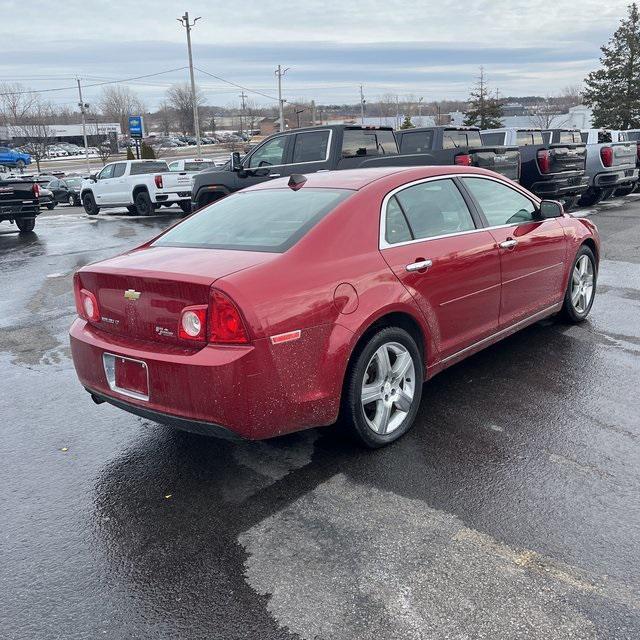
{"type": "Polygon", "coordinates": [[[148,216],[162,205],[172,204],[190,213],[192,186],[193,174],[169,171],[164,160],[127,160],[107,164],[85,180],[80,199],[90,216],[115,207],[148,216]]]}

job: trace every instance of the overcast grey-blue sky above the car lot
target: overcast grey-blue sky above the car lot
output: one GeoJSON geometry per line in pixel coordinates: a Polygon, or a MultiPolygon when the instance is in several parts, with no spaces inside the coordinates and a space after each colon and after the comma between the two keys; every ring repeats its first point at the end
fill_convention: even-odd
{"type": "MultiPolygon", "coordinates": [[[[151,74],[187,64],[176,18],[202,16],[195,65],[276,94],[274,69],[290,67],[284,96],[320,103],[373,102],[384,93],[464,99],[479,65],[502,95],[553,95],[581,82],[628,0],[0,0],[0,82],[34,89],[151,74]],[[7,46],[9,45],[9,46],[7,46]]],[[[127,83],[151,108],[186,70],[127,83]]],[[[207,103],[239,90],[197,72],[207,103]]],[[[87,88],[95,100],[99,88],[87,88]]],[[[72,90],[46,94],[74,106],[72,90]]],[[[260,104],[270,103],[252,95],[260,104]]]]}

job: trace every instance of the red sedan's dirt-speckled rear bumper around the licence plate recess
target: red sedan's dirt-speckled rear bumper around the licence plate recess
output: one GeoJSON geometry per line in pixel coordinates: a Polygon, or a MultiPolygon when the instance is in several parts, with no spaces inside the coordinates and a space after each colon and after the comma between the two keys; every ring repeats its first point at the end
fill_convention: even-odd
{"type": "Polygon", "coordinates": [[[69,333],[78,378],[98,400],[189,431],[214,436],[227,431],[224,437],[246,439],[334,422],[342,377],[327,372],[336,366],[344,370],[344,346],[352,336],[339,325],[322,325],[303,331],[301,339],[291,343],[273,345],[260,339],[251,345],[193,350],[125,340],[81,319],[69,333]],[[111,388],[105,352],[147,365],[148,400],[111,388]]]}

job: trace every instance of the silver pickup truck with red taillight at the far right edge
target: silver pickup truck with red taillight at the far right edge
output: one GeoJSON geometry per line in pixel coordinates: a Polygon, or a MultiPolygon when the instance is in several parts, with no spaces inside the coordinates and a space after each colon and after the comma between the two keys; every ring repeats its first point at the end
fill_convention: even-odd
{"type": "MultiPolygon", "coordinates": [[[[549,133],[559,136],[560,131],[549,133]]],[[[589,178],[589,188],[582,194],[579,205],[590,207],[611,197],[618,189],[633,188],[638,181],[635,143],[612,142],[611,132],[604,129],[585,129],[581,137],[587,145],[585,175],[589,178]]]]}

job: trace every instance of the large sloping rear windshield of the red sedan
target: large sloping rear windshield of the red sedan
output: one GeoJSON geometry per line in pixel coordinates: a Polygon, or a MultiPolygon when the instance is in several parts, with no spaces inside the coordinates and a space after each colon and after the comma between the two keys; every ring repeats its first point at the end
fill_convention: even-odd
{"type": "Polygon", "coordinates": [[[305,188],[234,193],[187,218],[153,244],[282,253],[352,193],[305,188]]]}

